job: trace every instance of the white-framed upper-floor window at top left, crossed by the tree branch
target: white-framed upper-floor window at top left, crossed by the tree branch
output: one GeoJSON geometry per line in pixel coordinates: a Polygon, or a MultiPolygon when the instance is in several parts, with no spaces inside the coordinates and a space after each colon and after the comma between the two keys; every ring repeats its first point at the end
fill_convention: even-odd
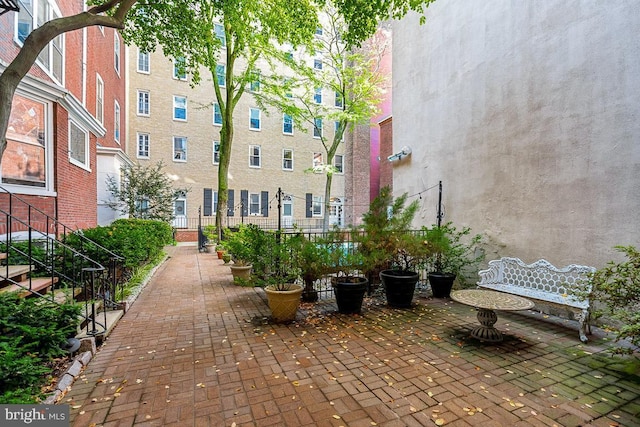
{"type": "MultiPolygon", "coordinates": [[[[53,0],[19,0],[18,24],[15,38],[22,45],[34,29],[62,14],[53,0]],[[34,7],[35,6],[35,7],[34,7]]],[[[64,84],[64,34],[55,37],[38,54],[38,62],[42,68],[59,83],[64,84]]]]}

